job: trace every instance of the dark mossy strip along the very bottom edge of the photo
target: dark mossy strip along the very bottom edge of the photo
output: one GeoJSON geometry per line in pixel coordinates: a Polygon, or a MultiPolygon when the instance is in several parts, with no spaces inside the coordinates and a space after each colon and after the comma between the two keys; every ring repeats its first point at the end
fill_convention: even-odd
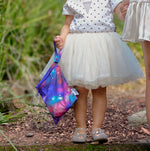
{"type": "MultiPolygon", "coordinates": [[[[18,151],[150,151],[150,144],[51,144],[16,146],[18,151]]],[[[15,151],[11,146],[1,146],[2,151],[15,151]]]]}

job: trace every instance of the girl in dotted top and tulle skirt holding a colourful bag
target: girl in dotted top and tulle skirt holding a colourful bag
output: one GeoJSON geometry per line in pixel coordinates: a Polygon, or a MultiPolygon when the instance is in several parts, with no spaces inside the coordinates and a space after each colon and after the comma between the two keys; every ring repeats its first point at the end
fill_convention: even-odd
{"type": "MultiPolygon", "coordinates": [[[[121,0],[67,0],[65,24],[55,43],[63,48],[60,66],[79,96],[74,105],[77,129],[73,142],[86,141],[87,95],[92,90],[94,141],[107,141],[101,129],[107,106],[106,87],[142,77],[138,62],[115,32],[113,12],[122,19],[121,0]]],[[[47,67],[53,62],[50,59],[47,67]]]]}

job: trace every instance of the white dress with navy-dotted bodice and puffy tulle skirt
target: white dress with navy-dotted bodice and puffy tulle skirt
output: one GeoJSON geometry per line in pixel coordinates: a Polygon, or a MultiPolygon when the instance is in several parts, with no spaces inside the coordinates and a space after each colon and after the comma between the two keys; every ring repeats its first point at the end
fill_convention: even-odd
{"type": "MultiPolygon", "coordinates": [[[[68,0],[73,15],[59,65],[70,86],[96,89],[143,76],[137,59],[115,32],[113,11],[121,0],[68,0]]],[[[46,73],[53,56],[42,72],[46,73]]]]}

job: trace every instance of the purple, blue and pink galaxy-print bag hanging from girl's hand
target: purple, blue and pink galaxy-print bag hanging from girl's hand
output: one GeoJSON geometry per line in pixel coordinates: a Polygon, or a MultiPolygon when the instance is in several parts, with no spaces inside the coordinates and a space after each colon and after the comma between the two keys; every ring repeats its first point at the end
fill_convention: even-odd
{"type": "Polygon", "coordinates": [[[78,94],[75,89],[71,89],[58,65],[62,50],[55,48],[54,63],[48,69],[43,79],[36,86],[38,93],[45,102],[54,123],[57,124],[62,116],[76,102],[78,94]]]}

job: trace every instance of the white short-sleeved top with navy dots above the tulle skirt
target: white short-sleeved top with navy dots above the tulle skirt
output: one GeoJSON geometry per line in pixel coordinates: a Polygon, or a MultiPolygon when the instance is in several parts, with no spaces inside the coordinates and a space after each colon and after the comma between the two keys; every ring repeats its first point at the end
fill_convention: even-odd
{"type": "Polygon", "coordinates": [[[70,32],[115,31],[113,12],[122,0],[67,0],[63,15],[73,15],[70,32]]]}

